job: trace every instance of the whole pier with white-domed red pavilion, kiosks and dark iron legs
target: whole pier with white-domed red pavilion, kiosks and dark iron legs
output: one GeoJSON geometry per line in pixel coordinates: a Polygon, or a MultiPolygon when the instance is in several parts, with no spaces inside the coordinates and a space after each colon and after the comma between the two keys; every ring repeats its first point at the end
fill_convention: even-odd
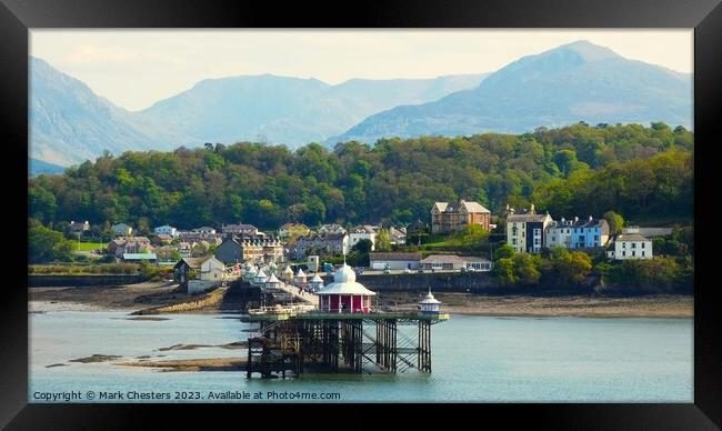
{"type": "Polygon", "coordinates": [[[418,312],[380,312],[371,305],[377,293],[357,282],[345,263],[327,287],[318,274],[309,283],[299,270],[293,282],[315,290],[303,295],[297,294],[299,287],[285,284],[274,273],[252,274],[262,291],[291,293],[305,303],[249,310],[248,320],[259,329],[248,340],[248,378],[254,373],[285,378],[307,371],[431,372],[431,325],[449,319],[431,291],[419,302],[418,312]]]}

